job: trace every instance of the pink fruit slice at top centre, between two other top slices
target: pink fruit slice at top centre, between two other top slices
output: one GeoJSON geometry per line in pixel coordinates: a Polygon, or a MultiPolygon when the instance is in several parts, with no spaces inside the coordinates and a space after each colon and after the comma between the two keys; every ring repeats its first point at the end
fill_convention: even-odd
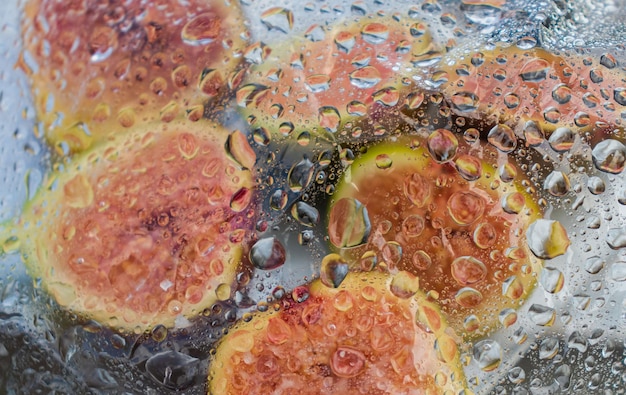
{"type": "Polygon", "coordinates": [[[371,16],[329,31],[313,26],[251,68],[237,104],[253,127],[274,136],[336,133],[376,103],[396,105],[415,70],[440,57],[416,20],[371,16]]]}

